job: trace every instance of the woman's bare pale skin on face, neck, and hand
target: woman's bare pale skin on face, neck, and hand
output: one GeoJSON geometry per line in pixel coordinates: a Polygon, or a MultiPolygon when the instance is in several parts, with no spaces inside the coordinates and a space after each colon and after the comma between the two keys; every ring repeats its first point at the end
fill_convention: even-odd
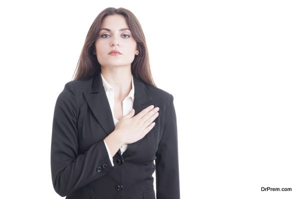
{"type": "Polygon", "coordinates": [[[114,131],[104,139],[111,157],[122,145],[142,139],[154,127],[153,121],[159,110],[158,107],[149,106],[134,117],[134,111],[123,116],[122,101],[132,88],[131,63],[138,53],[131,31],[123,28],[128,28],[124,16],[108,15],[101,23],[99,36],[95,41],[94,54],[101,66],[101,74],[114,91],[113,114],[118,123],[114,131]],[[108,54],[111,50],[118,50],[121,54],[112,56],[108,54]]]}

